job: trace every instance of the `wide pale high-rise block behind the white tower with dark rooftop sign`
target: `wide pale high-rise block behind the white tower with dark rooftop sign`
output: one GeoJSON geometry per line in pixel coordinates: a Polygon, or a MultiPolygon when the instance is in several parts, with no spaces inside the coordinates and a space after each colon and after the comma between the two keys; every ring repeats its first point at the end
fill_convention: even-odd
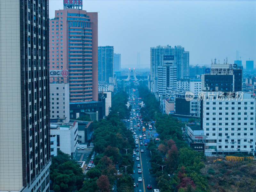
{"type": "Polygon", "coordinates": [[[157,78],[157,67],[163,66],[164,55],[173,55],[174,64],[177,66],[177,78],[182,79],[183,76],[189,76],[189,52],[185,51],[180,45],[171,47],[157,46],[150,48],[150,80],[154,81],[157,78]]]}

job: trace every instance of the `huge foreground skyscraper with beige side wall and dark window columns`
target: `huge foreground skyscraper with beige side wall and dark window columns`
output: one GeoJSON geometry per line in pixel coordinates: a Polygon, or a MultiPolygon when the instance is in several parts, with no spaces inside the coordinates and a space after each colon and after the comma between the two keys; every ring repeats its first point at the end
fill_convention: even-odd
{"type": "Polygon", "coordinates": [[[0,0],[0,191],[49,191],[48,3],[0,0]]]}

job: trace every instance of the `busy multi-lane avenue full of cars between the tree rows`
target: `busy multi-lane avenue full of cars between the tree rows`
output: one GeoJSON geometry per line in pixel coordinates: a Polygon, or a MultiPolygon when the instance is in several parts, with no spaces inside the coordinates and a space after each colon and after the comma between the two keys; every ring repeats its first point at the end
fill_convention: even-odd
{"type": "Polygon", "coordinates": [[[133,132],[133,137],[136,145],[133,150],[132,156],[134,161],[134,172],[132,175],[132,179],[134,179],[134,191],[159,191],[157,189],[156,178],[153,177],[149,172],[149,170],[151,169],[151,165],[149,162],[149,160],[151,159],[151,155],[150,151],[147,149],[149,141],[152,139],[156,139],[156,129],[151,124],[148,124],[149,122],[143,122],[142,120],[139,104],[141,102],[141,99],[139,98],[139,93],[137,92],[137,90],[130,90],[129,102],[132,108],[129,118],[125,120],[125,124],[127,129],[133,132]]]}

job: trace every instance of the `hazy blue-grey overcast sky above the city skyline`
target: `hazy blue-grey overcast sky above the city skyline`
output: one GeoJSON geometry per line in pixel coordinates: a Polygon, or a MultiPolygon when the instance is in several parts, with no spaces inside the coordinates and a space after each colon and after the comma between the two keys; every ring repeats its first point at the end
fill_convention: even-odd
{"type": "MultiPolygon", "coordinates": [[[[63,0],[49,0],[49,15],[63,0]]],[[[181,45],[190,64],[236,60],[256,62],[256,1],[83,0],[98,13],[98,45],[114,46],[122,68],[150,68],[150,47],[181,45]],[[240,58],[239,58],[240,60],[240,58]]]]}

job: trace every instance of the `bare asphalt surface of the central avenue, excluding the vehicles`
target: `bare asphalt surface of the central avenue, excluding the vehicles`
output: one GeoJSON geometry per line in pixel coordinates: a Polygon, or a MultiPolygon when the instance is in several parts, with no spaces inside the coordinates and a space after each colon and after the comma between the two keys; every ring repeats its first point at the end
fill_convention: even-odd
{"type": "MultiPolygon", "coordinates": [[[[136,99],[135,99],[135,102],[137,102],[136,99]]],[[[132,104],[132,109],[135,109],[135,107],[137,106],[132,104]]],[[[135,112],[133,113],[135,113],[135,115],[137,113],[138,115],[140,115],[139,110],[135,110],[135,112]]],[[[133,117],[133,114],[132,114],[132,117],[133,117]]],[[[132,120],[133,128],[137,128],[137,124],[138,122],[140,122],[140,120],[137,120],[137,119],[138,118],[135,118],[135,120],[132,120]],[[134,125],[136,125],[136,127],[134,127],[134,125]]],[[[130,128],[130,122],[127,122],[126,126],[130,128]]],[[[138,138],[139,138],[139,135],[142,135],[142,126],[141,126],[141,131],[139,131],[139,129],[134,129],[134,131],[136,132],[136,135],[138,135],[138,138]]],[[[151,134],[154,135],[154,133],[156,133],[156,129],[153,128],[152,132],[149,132],[149,135],[148,135],[148,132],[149,130],[148,128],[146,128],[146,138],[150,139],[151,134]]],[[[153,191],[153,189],[157,189],[157,182],[156,182],[156,178],[153,177],[153,175],[150,175],[149,173],[149,169],[151,169],[150,162],[149,162],[149,160],[151,159],[150,151],[146,149],[147,146],[144,145],[143,139],[142,140],[138,139],[138,141],[139,141],[139,144],[138,144],[139,151],[136,152],[136,149],[134,149],[134,151],[136,152],[136,155],[140,154],[140,160],[137,161],[135,156],[134,165],[133,165],[135,174],[132,174],[132,176],[134,177],[134,183],[138,183],[139,186],[134,187],[134,191],[138,192],[141,189],[143,192],[146,192],[146,191],[151,192],[153,191]],[[140,145],[140,142],[142,142],[143,145],[140,145]],[[144,152],[141,152],[141,149],[143,149],[144,152]],[[140,168],[137,168],[138,164],[140,164],[140,168]],[[142,173],[138,173],[139,169],[141,169],[142,173]],[[142,178],[142,182],[138,182],[139,177],[142,178]],[[148,184],[152,186],[152,189],[147,189],[148,184]]]]}

